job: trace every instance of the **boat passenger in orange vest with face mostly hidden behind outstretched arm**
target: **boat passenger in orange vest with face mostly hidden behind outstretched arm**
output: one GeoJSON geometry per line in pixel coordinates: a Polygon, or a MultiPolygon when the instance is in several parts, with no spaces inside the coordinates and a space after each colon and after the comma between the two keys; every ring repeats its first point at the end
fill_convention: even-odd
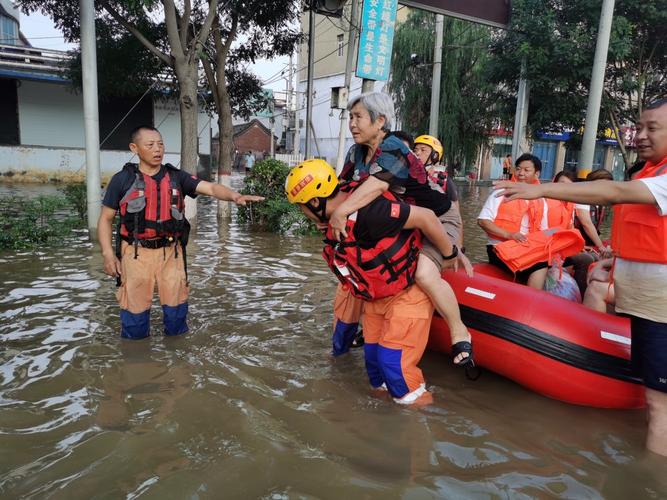
{"type": "MultiPolygon", "coordinates": [[[[556,174],[553,182],[574,182],[575,179],[573,172],[563,170],[556,174]]],[[[575,212],[577,214],[584,212],[589,213],[590,210],[588,205],[579,203],[575,204],[551,198],[545,198],[545,200],[548,207],[547,221],[549,223],[549,228],[558,227],[562,229],[572,229],[574,227],[575,212]]],[[[571,266],[573,268],[574,280],[577,282],[582,297],[586,293],[586,287],[588,286],[588,268],[595,262],[595,260],[595,257],[590,252],[584,251],[566,258],[563,262],[563,266],[571,266]]]]}

